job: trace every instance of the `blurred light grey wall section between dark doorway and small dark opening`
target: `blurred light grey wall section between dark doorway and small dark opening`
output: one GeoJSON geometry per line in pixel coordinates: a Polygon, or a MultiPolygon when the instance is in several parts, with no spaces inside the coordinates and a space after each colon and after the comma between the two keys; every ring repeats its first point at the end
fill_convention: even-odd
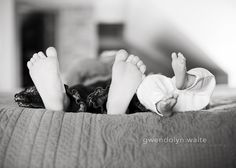
{"type": "Polygon", "coordinates": [[[55,27],[61,72],[66,72],[81,57],[97,56],[97,32],[92,5],[59,9],[55,27]]]}

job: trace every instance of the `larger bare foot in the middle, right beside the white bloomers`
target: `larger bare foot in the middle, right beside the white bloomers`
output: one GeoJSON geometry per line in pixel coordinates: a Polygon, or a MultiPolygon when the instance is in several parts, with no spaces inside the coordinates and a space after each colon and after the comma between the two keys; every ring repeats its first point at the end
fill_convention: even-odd
{"type": "Polygon", "coordinates": [[[117,52],[108,93],[108,114],[125,114],[132,97],[144,78],[145,70],[146,66],[137,56],[128,56],[125,50],[117,52]]]}

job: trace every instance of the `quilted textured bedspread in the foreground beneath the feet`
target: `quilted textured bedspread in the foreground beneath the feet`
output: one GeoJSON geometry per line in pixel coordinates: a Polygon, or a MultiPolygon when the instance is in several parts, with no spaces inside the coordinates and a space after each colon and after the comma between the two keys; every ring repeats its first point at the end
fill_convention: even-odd
{"type": "Polygon", "coordinates": [[[0,103],[0,167],[236,167],[236,100],[162,118],[0,103]]]}

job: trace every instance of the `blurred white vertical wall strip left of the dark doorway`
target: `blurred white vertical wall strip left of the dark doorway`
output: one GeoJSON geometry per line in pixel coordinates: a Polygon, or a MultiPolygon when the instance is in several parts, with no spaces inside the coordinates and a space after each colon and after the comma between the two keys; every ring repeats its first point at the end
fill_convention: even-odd
{"type": "Polygon", "coordinates": [[[20,86],[20,61],[16,47],[15,1],[0,1],[0,92],[20,86]]]}

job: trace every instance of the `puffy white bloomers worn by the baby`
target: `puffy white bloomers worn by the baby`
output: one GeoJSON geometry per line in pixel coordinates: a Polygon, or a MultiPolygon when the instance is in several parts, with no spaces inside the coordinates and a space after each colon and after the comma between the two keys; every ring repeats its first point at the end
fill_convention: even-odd
{"type": "Polygon", "coordinates": [[[175,77],[168,78],[155,74],[147,76],[137,89],[139,101],[149,110],[163,116],[156,108],[156,104],[169,93],[178,95],[173,111],[186,112],[205,108],[214,91],[215,76],[204,68],[194,68],[187,72],[196,77],[192,86],[178,90],[175,86],[175,77]]]}

